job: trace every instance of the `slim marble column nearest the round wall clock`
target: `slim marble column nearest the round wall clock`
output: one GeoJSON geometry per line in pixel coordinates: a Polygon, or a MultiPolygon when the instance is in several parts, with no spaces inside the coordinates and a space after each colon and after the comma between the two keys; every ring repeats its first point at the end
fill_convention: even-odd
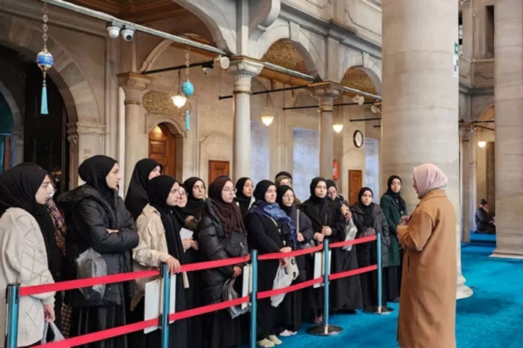
{"type": "Polygon", "coordinates": [[[320,108],[318,109],[320,118],[320,176],[332,179],[332,165],[334,158],[334,130],[333,114],[334,100],[342,95],[336,85],[329,82],[315,83],[309,87],[311,94],[315,97],[320,108]]]}

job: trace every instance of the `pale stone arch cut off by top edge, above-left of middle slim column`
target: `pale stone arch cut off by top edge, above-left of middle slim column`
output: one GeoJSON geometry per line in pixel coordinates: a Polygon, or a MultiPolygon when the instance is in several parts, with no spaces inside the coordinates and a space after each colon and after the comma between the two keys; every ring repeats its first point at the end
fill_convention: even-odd
{"type": "Polygon", "coordinates": [[[236,22],[229,18],[235,17],[236,5],[225,0],[176,0],[176,3],[191,11],[209,28],[212,39],[219,49],[236,53],[236,22]],[[232,7],[231,7],[232,4],[232,7]],[[232,17],[224,10],[234,9],[232,17]]]}

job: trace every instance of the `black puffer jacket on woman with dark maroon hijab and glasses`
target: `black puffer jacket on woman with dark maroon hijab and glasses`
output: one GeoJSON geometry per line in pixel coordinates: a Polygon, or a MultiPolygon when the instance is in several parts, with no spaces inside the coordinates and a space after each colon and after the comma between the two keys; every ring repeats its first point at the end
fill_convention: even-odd
{"type": "MultiPolygon", "coordinates": [[[[201,261],[223,260],[248,254],[247,236],[238,232],[226,234],[210,200],[203,207],[197,239],[201,261]]],[[[222,302],[223,285],[233,274],[233,266],[201,271],[201,296],[204,305],[222,302]]]]}

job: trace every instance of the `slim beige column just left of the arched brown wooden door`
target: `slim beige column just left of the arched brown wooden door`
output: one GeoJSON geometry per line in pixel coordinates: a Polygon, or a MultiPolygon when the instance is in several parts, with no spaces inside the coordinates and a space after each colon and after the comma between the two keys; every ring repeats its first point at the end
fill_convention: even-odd
{"type": "MultiPolygon", "coordinates": [[[[125,139],[125,168],[124,187],[131,181],[134,165],[142,158],[149,157],[149,134],[146,133],[145,112],[141,107],[142,96],[147,86],[153,81],[152,77],[137,74],[123,73],[118,74],[120,87],[126,93],[124,104],[126,106],[126,139],[125,139]]],[[[120,169],[121,170],[121,169],[120,169]]]]}

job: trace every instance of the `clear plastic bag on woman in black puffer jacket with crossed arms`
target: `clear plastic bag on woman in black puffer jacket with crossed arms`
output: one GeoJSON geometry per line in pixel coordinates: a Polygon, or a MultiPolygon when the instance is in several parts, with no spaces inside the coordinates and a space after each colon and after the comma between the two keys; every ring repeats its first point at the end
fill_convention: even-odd
{"type": "MultiPolygon", "coordinates": [[[[77,279],[102,277],[107,275],[107,263],[103,256],[100,255],[93,248],[85,250],[75,260],[76,263],[76,277],[77,279]]],[[[93,285],[89,287],[81,287],[78,289],[84,298],[88,301],[100,301],[104,298],[105,285],[93,285]]]]}

